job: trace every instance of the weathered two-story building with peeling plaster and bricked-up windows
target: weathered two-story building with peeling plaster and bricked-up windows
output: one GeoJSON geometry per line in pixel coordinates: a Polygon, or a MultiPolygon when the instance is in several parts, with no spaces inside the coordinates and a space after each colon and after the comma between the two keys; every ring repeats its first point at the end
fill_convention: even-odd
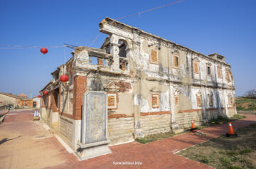
{"type": "Polygon", "coordinates": [[[107,94],[110,144],[177,131],[196,121],[233,116],[230,65],[138,28],[105,18],[102,47],[77,47],[41,90],[41,115],[74,150],[81,141],[82,94],[107,94]],[[68,75],[67,83],[60,75],[68,75]],[[48,94],[43,95],[47,90],[48,94]]]}

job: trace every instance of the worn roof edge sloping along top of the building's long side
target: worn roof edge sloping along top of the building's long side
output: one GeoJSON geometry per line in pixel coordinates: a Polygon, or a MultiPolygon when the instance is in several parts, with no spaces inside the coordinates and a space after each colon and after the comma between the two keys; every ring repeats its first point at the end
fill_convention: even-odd
{"type": "MultiPolygon", "coordinates": [[[[172,43],[173,45],[179,46],[179,47],[184,48],[184,49],[186,49],[186,50],[190,50],[191,52],[196,53],[196,54],[198,54],[198,55],[202,55],[203,57],[208,58],[208,59],[210,59],[210,60],[215,60],[215,61],[217,61],[217,62],[220,62],[219,60],[216,60],[216,59],[214,59],[214,58],[210,58],[208,55],[204,55],[203,53],[199,53],[199,52],[197,52],[197,51],[195,51],[195,50],[191,50],[190,48],[186,48],[185,46],[179,45],[178,43],[174,43],[174,42],[172,42],[171,40],[167,40],[167,39],[165,39],[165,38],[161,38],[160,36],[156,36],[156,35],[154,35],[154,34],[152,34],[152,33],[148,33],[148,32],[146,32],[146,31],[143,31],[143,30],[139,29],[139,28],[136,28],[136,27],[133,27],[133,26],[129,26],[129,25],[125,24],[125,23],[116,21],[116,20],[114,20],[114,19],[112,19],[112,18],[109,18],[109,17],[106,17],[106,18],[102,19],[102,21],[99,23],[99,25],[100,25],[100,32],[106,33],[105,31],[102,30],[102,26],[103,26],[103,23],[108,23],[108,24],[110,24],[109,21],[112,21],[112,23],[118,23],[118,24],[122,25],[127,31],[128,31],[128,30],[129,30],[129,31],[132,31],[132,30],[134,29],[134,30],[136,30],[136,31],[139,31],[139,32],[141,32],[141,33],[144,33],[144,34],[146,34],[146,35],[149,35],[149,36],[151,36],[151,37],[153,37],[153,38],[157,38],[157,39],[159,39],[159,40],[164,40],[166,43],[172,43]]],[[[217,54],[218,54],[218,53],[217,53],[217,54]]],[[[218,54],[218,55],[220,55],[220,54],[218,54]]],[[[223,56],[223,55],[221,55],[221,56],[223,56]]],[[[223,56],[223,57],[224,57],[224,56],[223,56]]],[[[224,57],[224,58],[225,58],[225,57],[224,57]]],[[[231,65],[229,65],[227,62],[221,62],[221,63],[223,63],[223,64],[228,65],[229,67],[231,67],[231,65]]]]}

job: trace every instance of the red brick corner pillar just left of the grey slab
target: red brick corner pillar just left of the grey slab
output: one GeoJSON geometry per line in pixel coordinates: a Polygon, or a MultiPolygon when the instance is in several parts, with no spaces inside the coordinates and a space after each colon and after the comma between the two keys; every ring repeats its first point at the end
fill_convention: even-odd
{"type": "Polygon", "coordinates": [[[85,93],[87,86],[86,76],[75,76],[74,95],[73,95],[73,117],[75,120],[82,119],[82,94],[85,93]]]}

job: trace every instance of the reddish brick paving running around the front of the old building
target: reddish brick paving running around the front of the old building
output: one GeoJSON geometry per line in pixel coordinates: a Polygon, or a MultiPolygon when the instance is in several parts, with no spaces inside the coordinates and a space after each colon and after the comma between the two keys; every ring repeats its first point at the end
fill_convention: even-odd
{"type": "MultiPolygon", "coordinates": [[[[153,143],[141,144],[137,142],[125,143],[118,146],[111,146],[112,153],[97,158],[91,158],[89,160],[78,161],[78,159],[71,153],[65,151],[62,145],[55,139],[55,137],[48,137],[49,133],[41,129],[42,124],[31,121],[33,114],[31,111],[22,111],[17,114],[12,112],[13,115],[9,115],[9,118],[4,122],[5,126],[0,125],[0,141],[2,140],[3,131],[17,130],[23,135],[28,134],[33,139],[29,143],[32,145],[38,144],[39,147],[34,148],[33,151],[29,151],[36,158],[30,157],[31,160],[26,160],[24,156],[23,163],[17,165],[18,161],[13,160],[16,156],[16,152],[6,149],[6,146],[13,145],[14,143],[20,145],[24,143],[24,140],[20,138],[8,141],[0,144],[0,163],[10,168],[16,168],[17,166],[25,166],[26,168],[210,168],[207,165],[203,165],[193,160],[188,160],[182,156],[178,156],[174,153],[181,151],[184,148],[194,146],[197,143],[206,141],[208,138],[215,138],[224,134],[228,130],[228,125],[223,124],[215,127],[203,129],[204,133],[208,133],[208,138],[195,136],[194,133],[185,133],[179,136],[166,138],[153,143]],[[38,129],[38,130],[35,130],[38,129]],[[47,135],[48,138],[42,138],[34,140],[37,135],[47,135]],[[36,141],[36,143],[34,143],[36,141]],[[12,143],[11,143],[12,142],[12,143]],[[4,151],[1,150],[4,148],[4,151]],[[5,157],[3,159],[3,157],[5,157]],[[38,158],[40,160],[38,160],[38,158]],[[12,160],[11,160],[12,159],[12,160]],[[113,165],[114,162],[134,162],[140,161],[142,165],[113,165]]],[[[252,123],[256,123],[256,116],[246,114],[247,118],[240,121],[233,122],[233,128],[236,130],[252,123]]],[[[7,134],[7,133],[5,133],[7,134]]],[[[9,133],[10,134],[10,133],[9,133]]],[[[7,134],[8,135],[8,134],[7,134]]],[[[6,135],[6,136],[7,136],[6,135]]],[[[50,135],[49,135],[50,136],[50,135]]],[[[29,139],[28,139],[29,140],[29,139]]],[[[23,147],[26,148],[26,147],[23,147]]],[[[22,152],[28,153],[28,150],[19,147],[19,155],[22,152]]],[[[22,168],[22,167],[21,167],[22,168]]]]}

